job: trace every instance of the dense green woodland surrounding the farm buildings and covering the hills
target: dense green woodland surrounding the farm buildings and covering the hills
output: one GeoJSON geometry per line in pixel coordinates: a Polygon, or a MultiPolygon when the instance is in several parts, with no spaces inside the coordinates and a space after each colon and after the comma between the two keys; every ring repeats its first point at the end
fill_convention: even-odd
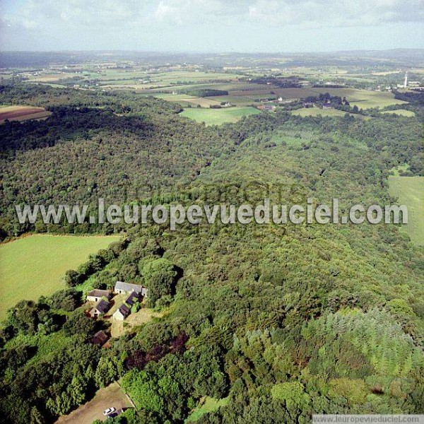
{"type": "MultiPolygon", "coordinates": [[[[417,96],[420,96],[417,93],[417,96]]],[[[409,101],[409,100],[408,100],[409,101]]],[[[66,275],[69,288],[11,308],[0,408],[51,423],[120,379],[137,409],[110,423],[309,423],[313,413],[424,413],[423,250],[395,225],[19,225],[19,203],[385,204],[387,177],[423,175],[415,118],[258,114],[206,127],[135,93],[4,86],[0,102],[49,107],[1,133],[1,233],[122,232],[66,275]],[[88,288],[151,290],[164,312],[101,349],[88,288]]]]}

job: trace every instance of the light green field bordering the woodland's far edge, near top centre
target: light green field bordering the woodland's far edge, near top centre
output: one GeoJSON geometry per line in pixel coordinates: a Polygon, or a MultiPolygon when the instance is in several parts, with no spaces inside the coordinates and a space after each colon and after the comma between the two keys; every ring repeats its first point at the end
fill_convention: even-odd
{"type": "Polygon", "coordinates": [[[182,112],[183,117],[204,122],[206,125],[221,125],[225,122],[237,122],[243,116],[261,113],[254,107],[228,107],[226,109],[205,109],[192,107],[182,112]]]}

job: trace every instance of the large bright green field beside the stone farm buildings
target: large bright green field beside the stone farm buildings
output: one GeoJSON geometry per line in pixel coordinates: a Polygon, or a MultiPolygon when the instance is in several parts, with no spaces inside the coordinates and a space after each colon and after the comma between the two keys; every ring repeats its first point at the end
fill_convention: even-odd
{"type": "Polygon", "coordinates": [[[65,288],[63,276],[119,236],[30,235],[0,245],[0,319],[19,300],[65,288]]]}

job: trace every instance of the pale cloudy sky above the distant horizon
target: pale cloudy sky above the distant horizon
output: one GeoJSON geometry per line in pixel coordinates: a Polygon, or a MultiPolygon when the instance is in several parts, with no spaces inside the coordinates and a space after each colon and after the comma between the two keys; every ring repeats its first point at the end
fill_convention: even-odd
{"type": "Polygon", "coordinates": [[[424,48],[424,0],[0,0],[0,49],[424,48]]]}

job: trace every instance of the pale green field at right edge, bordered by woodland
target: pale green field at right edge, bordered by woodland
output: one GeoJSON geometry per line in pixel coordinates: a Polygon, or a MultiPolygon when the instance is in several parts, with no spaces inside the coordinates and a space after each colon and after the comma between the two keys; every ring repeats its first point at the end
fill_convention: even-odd
{"type": "Polygon", "coordinates": [[[424,245],[424,177],[389,177],[389,193],[408,207],[408,224],[404,230],[411,241],[424,245]]]}

